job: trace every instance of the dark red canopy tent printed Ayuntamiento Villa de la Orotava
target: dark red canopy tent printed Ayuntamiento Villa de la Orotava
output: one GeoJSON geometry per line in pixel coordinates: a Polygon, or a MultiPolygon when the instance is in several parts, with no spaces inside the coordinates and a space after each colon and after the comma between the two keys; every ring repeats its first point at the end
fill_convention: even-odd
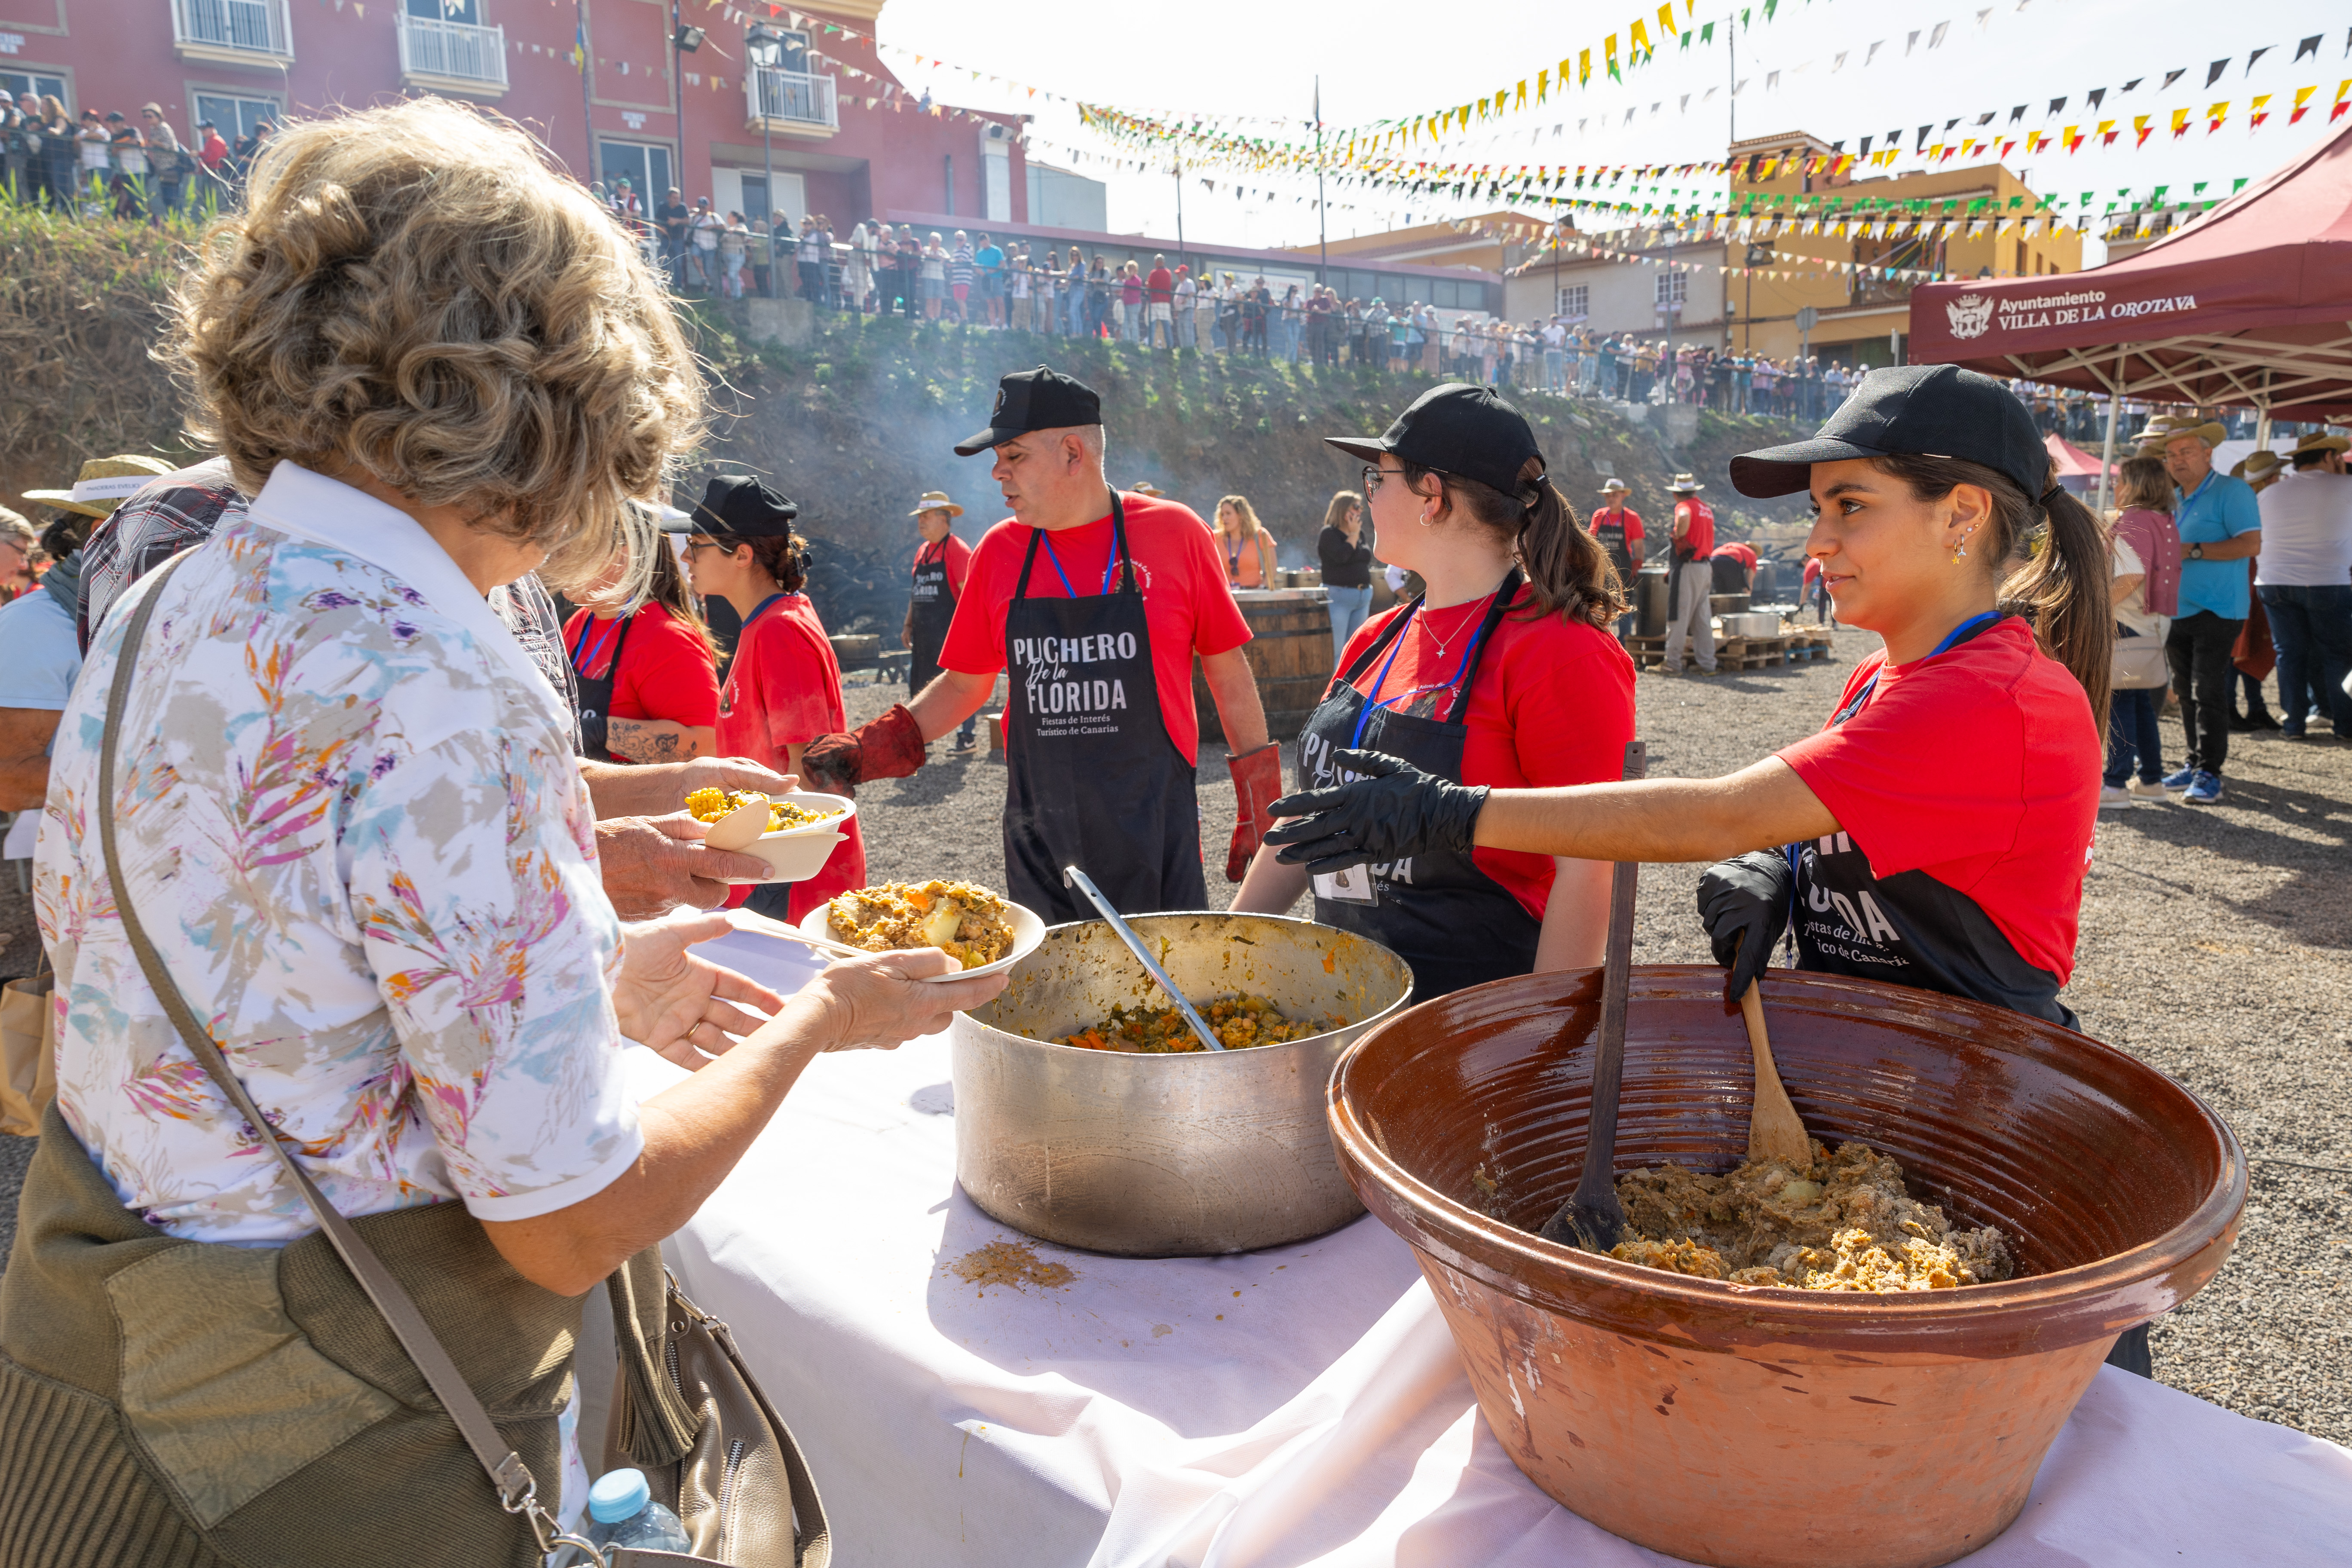
{"type": "Polygon", "coordinates": [[[1924,364],[2251,404],[2265,423],[2352,416],[2352,127],[2138,256],[1922,284],[1910,327],[1924,364]]]}

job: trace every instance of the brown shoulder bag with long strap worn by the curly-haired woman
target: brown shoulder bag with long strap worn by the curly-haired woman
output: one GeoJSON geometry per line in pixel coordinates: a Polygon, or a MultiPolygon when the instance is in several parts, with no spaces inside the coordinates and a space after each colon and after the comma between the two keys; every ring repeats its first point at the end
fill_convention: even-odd
{"type": "MultiPolygon", "coordinates": [[[[174,557],[155,574],[155,585],[141,597],[139,611],[122,632],[122,654],[115,661],[113,686],[106,696],[106,738],[99,745],[99,849],[106,858],[106,882],[122,917],[122,933],[139,957],[139,973],[162,1004],[165,1016],[179,1032],[181,1044],[198,1060],[212,1084],[245,1117],[247,1126],[270,1128],[270,1121],[245,1093],[245,1084],[228,1070],[228,1060],[212,1041],[212,1034],[195,1020],[188,999],[162,966],[162,954],[148,940],[139,912],[132,907],[129,886],[122,882],[122,863],[115,849],[115,750],[122,736],[122,712],[129,703],[132,670],[139,663],[139,644],[169,576],[188,555],[174,557]]],[[[499,1507],[522,1514],[543,1552],[574,1549],[576,1563],[600,1568],[826,1568],[833,1559],[833,1537],[826,1523],[823,1502],[809,1465],[793,1441],[790,1429],[776,1415],[767,1394],[753,1382],[743,1359],[736,1354],[727,1324],[699,1312],[680,1291],[675,1279],[666,1279],[666,1300],[654,1321],[654,1333],[663,1335],[656,1352],[659,1366],[668,1371],[687,1406],[699,1415],[699,1429],[689,1439],[684,1460],[675,1467],[654,1467],[647,1476],[656,1486],[656,1497],[677,1505],[675,1512],[687,1526],[694,1554],[597,1549],[588,1540],[562,1530],[555,1514],[539,1500],[539,1481],[515,1450],[499,1436],[489,1410],[475,1399],[463,1373],[442,1349],[416,1302],[400,1281],[383,1267],[383,1260],[360,1239],[350,1222],[327,1201],[296,1164],[285,1140],[270,1138],[270,1152],[285,1168],[287,1180],[301,1192],[320,1229],[334,1246],[343,1267],[383,1314],[386,1326],[400,1347],[416,1363],[433,1396],[456,1422],[459,1436],[489,1476],[499,1495],[499,1507]],[[663,1490],[666,1488],[666,1490],[663,1490]]],[[[612,1288],[623,1286],[626,1274],[614,1274],[612,1288]]],[[[644,1326],[647,1314],[633,1321],[644,1326]]],[[[626,1359],[623,1359],[626,1366],[626,1359]]],[[[652,1410],[656,1401],[644,1389],[630,1385],[626,1371],[614,1399],[607,1455],[626,1455],[630,1448],[663,1448],[675,1453],[675,1441],[663,1443],[654,1434],[644,1443],[644,1427],[659,1422],[652,1410]]],[[[677,1434],[668,1434],[677,1436],[677,1434]]],[[[612,1462],[621,1462],[614,1458],[612,1462]]]]}

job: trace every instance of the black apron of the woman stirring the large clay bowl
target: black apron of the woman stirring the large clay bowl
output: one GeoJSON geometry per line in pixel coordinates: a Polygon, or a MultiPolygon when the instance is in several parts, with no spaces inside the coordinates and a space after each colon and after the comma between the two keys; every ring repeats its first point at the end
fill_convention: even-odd
{"type": "MultiPolygon", "coordinates": [[[[1936,654],[1999,621],[1987,611],[1962,623],[1936,654]]],[[[1860,712],[1875,689],[1877,677],[1830,724],[1860,712]]],[[[1844,832],[1790,844],[1783,853],[1797,875],[1797,969],[1971,997],[2074,1027],[2074,1013],[2058,1001],[2058,976],[2027,964],[1966,893],[1919,870],[1879,877],[1863,846],[1844,832]]]]}

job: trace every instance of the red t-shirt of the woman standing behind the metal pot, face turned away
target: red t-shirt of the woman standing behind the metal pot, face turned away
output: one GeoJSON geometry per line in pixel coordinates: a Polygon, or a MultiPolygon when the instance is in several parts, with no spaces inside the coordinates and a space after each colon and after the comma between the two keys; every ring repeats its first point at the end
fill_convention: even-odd
{"type": "MultiPolygon", "coordinates": [[[[1524,599],[1522,590],[1522,599],[1524,599]]],[[[1444,686],[1461,668],[1468,639],[1486,616],[1489,604],[1454,604],[1423,611],[1404,630],[1404,646],[1388,665],[1388,679],[1374,691],[1388,651],[1355,679],[1367,701],[1392,698],[1416,686],[1444,686]],[[1435,635],[1425,635],[1435,632],[1435,635]],[[1439,649],[1439,642],[1444,644],[1439,649]]],[[[1374,616],[1348,639],[1338,668],[1350,670],[1388,623],[1402,616],[1392,609],[1374,616]]],[[[1428,719],[1454,715],[1458,698],[1449,691],[1423,691],[1392,703],[1390,712],[1428,719]]],[[[1463,783],[1494,790],[1550,790],[1576,783],[1616,783],[1625,776],[1625,745],[1632,741],[1632,658],[1609,632],[1566,621],[1559,614],[1524,621],[1508,611],[1494,628],[1470,682],[1470,733],[1463,738],[1463,783]]],[[[1503,884],[1519,905],[1543,919],[1557,867],[1550,856],[1512,849],[1475,849],[1470,858],[1503,884]]]]}

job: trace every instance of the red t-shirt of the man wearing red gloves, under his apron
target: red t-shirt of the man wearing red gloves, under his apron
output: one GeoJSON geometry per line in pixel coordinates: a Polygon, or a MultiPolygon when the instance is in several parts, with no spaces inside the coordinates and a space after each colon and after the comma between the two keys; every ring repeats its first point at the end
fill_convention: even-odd
{"type": "MultiPolygon", "coordinates": [[[[1120,491],[1120,508],[1127,512],[1127,552],[1136,562],[1143,618],[1152,635],[1160,712],[1169,741],[1192,762],[1200,752],[1192,656],[1242,646],[1249,642],[1249,623],[1225,588],[1225,559],[1216,552],[1216,536],[1192,508],[1127,491],[1120,491]]],[[[948,644],[938,654],[941,668],[964,675],[995,675],[1004,668],[1004,611],[1014,602],[1021,557],[1035,531],[1007,517],[981,536],[971,552],[964,597],[955,602],[948,644]]],[[[1033,599],[1068,599],[1070,590],[1075,597],[1108,592],[1110,555],[1110,512],[1075,529],[1058,529],[1037,545],[1028,592],[1033,599]],[[1054,569],[1056,562],[1061,571],[1054,569]],[[1068,588],[1063,588],[1065,574],[1068,588]]]]}

